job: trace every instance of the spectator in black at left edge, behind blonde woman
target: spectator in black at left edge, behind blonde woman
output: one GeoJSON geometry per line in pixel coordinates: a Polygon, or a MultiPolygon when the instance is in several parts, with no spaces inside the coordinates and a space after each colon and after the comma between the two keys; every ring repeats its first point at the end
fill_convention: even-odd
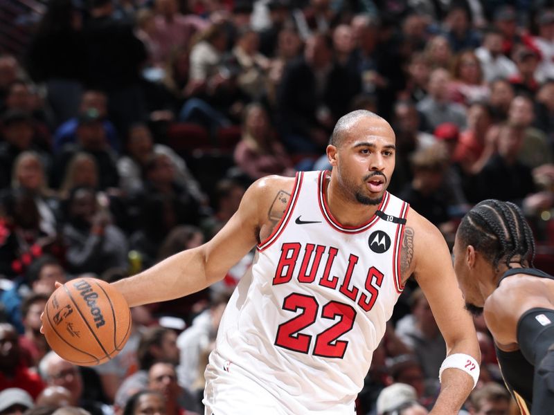
{"type": "Polygon", "coordinates": [[[7,111],[1,117],[0,142],[0,189],[10,187],[13,163],[24,151],[35,151],[42,159],[46,170],[50,167],[50,156],[33,142],[35,122],[28,113],[7,111]]]}

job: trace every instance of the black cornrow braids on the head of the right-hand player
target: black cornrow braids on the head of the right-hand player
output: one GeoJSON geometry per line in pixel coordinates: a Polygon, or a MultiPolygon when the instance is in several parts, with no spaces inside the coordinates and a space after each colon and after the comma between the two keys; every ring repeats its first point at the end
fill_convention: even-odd
{"type": "Polygon", "coordinates": [[[467,212],[458,228],[461,242],[474,246],[498,269],[500,261],[533,266],[535,240],[521,210],[511,202],[482,201],[467,212]]]}

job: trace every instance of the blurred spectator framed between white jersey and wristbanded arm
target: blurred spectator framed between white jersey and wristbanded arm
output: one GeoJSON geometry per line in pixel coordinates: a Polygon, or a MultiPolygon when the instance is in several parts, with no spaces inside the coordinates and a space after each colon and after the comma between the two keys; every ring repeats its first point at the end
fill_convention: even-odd
{"type": "MultiPolygon", "coordinates": [[[[410,296],[411,314],[396,324],[396,334],[417,357],[425,378],[436,378],[446,356],[445,340],[423,292],[417,288],[410,296]]],[[[402,380],[395,378],[398,382],[402,380]]]]}

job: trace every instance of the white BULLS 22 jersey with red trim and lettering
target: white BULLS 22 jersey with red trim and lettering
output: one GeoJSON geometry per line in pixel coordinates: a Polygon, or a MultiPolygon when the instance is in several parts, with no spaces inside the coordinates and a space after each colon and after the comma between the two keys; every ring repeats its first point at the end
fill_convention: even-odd
{"type": "Polygon", "coordinates": [[[370,221],[344,226],[329,211],[327,183],[328,172],[297,174],[283,219],[257,246],[226,307],[206,369],[204,402],[215,415],[233,413],[214,409],[233,399],[217,396],[233,376],[245,393],[263,389],[251,391],[252,401],[274,396],[277,414],[353,414],[402,293],[409,205],[385,192],[370,221]]]}

